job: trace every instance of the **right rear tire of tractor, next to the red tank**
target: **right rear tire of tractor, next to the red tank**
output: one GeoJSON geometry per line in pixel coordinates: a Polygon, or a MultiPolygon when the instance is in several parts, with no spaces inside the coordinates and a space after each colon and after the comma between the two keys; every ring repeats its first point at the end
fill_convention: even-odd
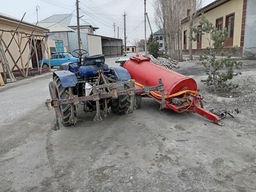
{"type": "MultiPolygon", "coordinates": [[[[115,86],[117,91],[124,90],[124,84],[118,83],[115,86]]],[[[112,99],[111,100],[111,111],[113,113],[116,113],[118,115],[125,114],[129,111],[129,95],[120,95],[117,99],[112,99]]]]}

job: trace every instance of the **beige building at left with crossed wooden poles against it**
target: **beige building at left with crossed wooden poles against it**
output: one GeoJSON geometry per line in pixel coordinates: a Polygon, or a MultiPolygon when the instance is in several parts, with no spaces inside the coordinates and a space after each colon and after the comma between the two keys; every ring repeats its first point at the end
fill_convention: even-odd
{"type": "MultiPolygon", "coordinates": [[[[14,67],[13,60],[17,61],[17,65],[20,69],[22,69],[22,65],[26,65],[26,62],[29,58],[29,44],[28,38],[26,38],[26,35],[29,35],[33,32],[33,35],[39,35],[44,36],[44,32],[48,29],[36,26],[34,24],[30,24],[28,22],[21,22],[19,28],[17,29],[17,26],[19,25],[20,20],[15,19],[13,17],[10,17],[8,15],[0,14],[0,35],[3,35],[3,48],[5,50],[4,44],[9,45],[12,40],[12,34],[10,31],[20,31],[19,37],[17,35],[14,36],[14,39],[12,40],[12,43],[9,45],[9,51],[11,52],[12,56],[8,52],[5,53],[6,59],[8,60],[9,66],[14,71],[17,70],[17,67],[14,67]],[[23,34],[21,34],[23,33],[23,34]],[[17,42],[20,42],[20,49],[17,45],[17,42]],[[23,52],[22,52],[23,51],[23,52]],[[20,58],[20,52],[22,52],[22,56],[20,58]]],[[[42,42],[39,40],[35,41],[35,44],[38,45],[38,49],[36,50],[38,60],[42,59],[42,46],[40,46],[42,42]]],[[[37,67],[36,64],[36,55],[33,54],[32,59],[29,61],[29,67],[37,67]]],[[[3,72],[3,65],[0,66],[0,72],[3,72]]]]}

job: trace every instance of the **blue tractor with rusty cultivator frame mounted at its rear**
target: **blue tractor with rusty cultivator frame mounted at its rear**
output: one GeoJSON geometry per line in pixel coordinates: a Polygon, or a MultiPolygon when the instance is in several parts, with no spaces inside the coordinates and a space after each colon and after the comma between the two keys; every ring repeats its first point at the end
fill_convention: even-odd
{"type": "Polygon", "coordinates": [[[141,104],[141,94],[163,92],[161,81],[159,86],[135,88],[129,72],[123,67],[109,67],[104,55],[88,56],[87,51],[76,49],[72,56],[79,60],[63,63],[49,83],[51,99],[46,105],[48,109],[54,107],[54,130],[60,129],[59,120],[64,126],[76,124],[79,105],[86,113],[96,111],[93,120],[100,122],[100,113],[107,116],[109,108],[116,114],[132,113],[141,104]]]}

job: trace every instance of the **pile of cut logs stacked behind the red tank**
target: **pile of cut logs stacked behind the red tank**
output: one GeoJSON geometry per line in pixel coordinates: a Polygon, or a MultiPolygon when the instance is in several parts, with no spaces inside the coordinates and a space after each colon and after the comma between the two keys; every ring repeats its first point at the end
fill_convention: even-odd
{"type": "Polygon", "coordinates": [[[147,58],[150,58],[150,60],[156,65],[160,65],[169,69],[179,68],[178,61],[173,60],[172,58],[162,58],[162,57],[154,58],[154,56],[152,56],[152,54],[149,54],[149,53],[146,53],[145,56],[147,58]]]}

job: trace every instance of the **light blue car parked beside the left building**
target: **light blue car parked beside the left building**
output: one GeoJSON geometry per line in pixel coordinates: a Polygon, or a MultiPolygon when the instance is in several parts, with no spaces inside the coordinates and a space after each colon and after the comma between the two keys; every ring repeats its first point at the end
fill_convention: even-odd
{"type": "Polygon", "coordinates": [[[40,66],[43,65],[43,67],[49,67],[50,66],[49,61],[51,61],[51,68],[52,68],[56,66],[61,66],[61,64],[63,63],[75,62],[77,61],[77,58],[72,56],[70,52],[56,52],[52,54],[52,57],[50,60],[44,60],[44,63],[43,63],[43,60],[40,60],[39,65],[40,66]]]}

